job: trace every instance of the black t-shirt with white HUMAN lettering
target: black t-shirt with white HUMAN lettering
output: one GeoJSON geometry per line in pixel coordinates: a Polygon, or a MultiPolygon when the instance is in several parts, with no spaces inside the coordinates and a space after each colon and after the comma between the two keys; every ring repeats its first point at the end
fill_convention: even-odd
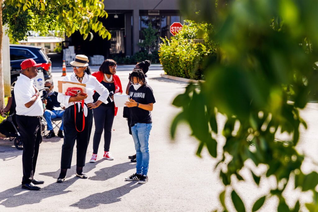
{"type": "MultiPolygon", "coordinates": [[[[151,87],[147,84],[142,85],[138,90],[134,89],[133,85],[129,87],[129,96],[139,104],[155,103],[155,97],[151,87]]],[[[130,109],[130,127],[133,127],[136,123],[152,123],[151,113],[148,110],[144,110],[140,107],[129,107],[130,109]]]]}

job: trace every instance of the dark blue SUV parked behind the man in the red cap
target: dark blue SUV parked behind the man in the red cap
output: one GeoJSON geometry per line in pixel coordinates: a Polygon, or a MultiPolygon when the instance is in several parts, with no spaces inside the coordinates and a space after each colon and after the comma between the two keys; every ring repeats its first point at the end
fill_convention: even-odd
{"type": "Polygon", "coordinates": [[[21,62],[25,59],[34,59],[36,63],[42,63],[38,72],[43,72],[44,79],[51,79],[52,62],[41,47],[10,44],[11,89],[21,73],[21,62]]]}

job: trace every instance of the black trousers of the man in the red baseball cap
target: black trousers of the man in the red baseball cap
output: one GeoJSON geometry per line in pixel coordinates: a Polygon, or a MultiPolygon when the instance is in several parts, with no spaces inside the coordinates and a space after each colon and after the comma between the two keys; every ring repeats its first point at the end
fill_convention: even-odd
{"type": "Polygon", "coordinates": [[[17,125],[23,142],[22,185],[24,185],[31,183],[35,173],[40,141],[42,140],[41,121],[37,117],[17,115],[17,125]]]}

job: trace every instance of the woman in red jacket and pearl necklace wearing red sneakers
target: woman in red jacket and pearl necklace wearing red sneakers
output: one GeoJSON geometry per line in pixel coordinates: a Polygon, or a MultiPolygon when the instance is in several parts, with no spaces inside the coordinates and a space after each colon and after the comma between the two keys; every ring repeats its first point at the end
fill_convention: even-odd
{"type": "MultiPolygon", "coordinates": [[[[114,93],[121,94],[121,81],[116,73],[117,63],[112,59],[105,60],[99,68],[99,72],[94,72],[92,75],[104,85],[111,97],[108,97],[108,104],[102,103],[99,107],[93,109],[93,117],[95,123],[95,133],[93,138],[93,155],[89,162],[96,162],[98,147],[100,144],[101,134],[104,130],[104,158],[114,160],[114,157],[109,152],[110,140],[112,136],[112,126],[114,116],[117,114],[118,107],[115,107],[113,96],[114,93]],[[111,92],[113,92],[111,94],[111,92]]],[[[97,100],[99,94],[95,92],[93,99],[97,100]]]]}

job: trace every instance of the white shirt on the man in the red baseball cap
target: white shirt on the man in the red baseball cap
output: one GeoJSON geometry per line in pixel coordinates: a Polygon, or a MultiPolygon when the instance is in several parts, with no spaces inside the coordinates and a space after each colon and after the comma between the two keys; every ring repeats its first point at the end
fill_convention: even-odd
{"type": "Polygon", "coordinates": [[[25,116],[42,116],[43,115],[43,104],[39,97],[31,107],[27,108],[26,103],[31,101],[32,96],[35,94],[33,87],[33,79],[28,78],[24,74],[20,74],[14,85],[14,97],[16,99],[16,111],[17,115],[25,116]]]}

